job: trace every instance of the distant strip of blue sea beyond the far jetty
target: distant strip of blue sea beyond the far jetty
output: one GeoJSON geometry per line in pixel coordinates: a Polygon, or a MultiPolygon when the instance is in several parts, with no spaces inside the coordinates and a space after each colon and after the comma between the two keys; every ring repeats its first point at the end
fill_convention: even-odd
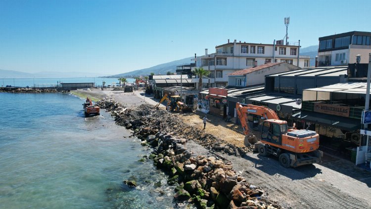
{"type": "MultiPolygon", "coordinates": [[[[127,79],[129,83],[135,82],[135,79],[127,79]]],[[[95,83],[95,86],[111,85],[112,83],[119,84],[118,79],[115,78],[64,78],[64,79],[0,79],[0,86],[19,86],[19,87],[51,87],[62,83],[95,83]]]]}

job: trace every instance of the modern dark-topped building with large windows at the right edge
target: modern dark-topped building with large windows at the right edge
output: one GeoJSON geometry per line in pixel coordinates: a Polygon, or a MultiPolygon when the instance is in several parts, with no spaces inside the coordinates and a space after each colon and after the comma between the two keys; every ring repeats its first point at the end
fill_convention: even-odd
{"type": "Polygon", "coordinates": [[[356,55],[362,55],[361,63],[368,63],[371,53],[371,32],[352,31],[319,38],[318,66],[338,66],[356,63],[356,55]]]}

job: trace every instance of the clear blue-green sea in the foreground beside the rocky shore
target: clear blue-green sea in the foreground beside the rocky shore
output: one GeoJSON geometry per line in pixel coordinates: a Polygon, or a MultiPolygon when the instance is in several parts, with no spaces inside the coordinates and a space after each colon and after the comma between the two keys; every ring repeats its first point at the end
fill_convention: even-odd
{"type": "Polygon", "coordinates": [[[138,162],[150,150],[104,110],[84,118],[83,100],[62,93],[0,93],[0,102],[1,209],[174,206],[165,175],[138,162]]]}

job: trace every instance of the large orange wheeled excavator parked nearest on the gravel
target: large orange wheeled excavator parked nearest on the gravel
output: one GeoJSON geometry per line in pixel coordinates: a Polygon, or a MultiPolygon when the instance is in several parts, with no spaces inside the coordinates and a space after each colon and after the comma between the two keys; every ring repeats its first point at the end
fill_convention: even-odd
{"type": "Polygon", "coordinates": [[[320,137],[316,131],[288,129],[287,122],[279,120],[276,112],[265,106],[252,104],[242,106],[237,102],[236,110],[243,133],[250,138],[255,136],[248,125],[247,114],[266,119],[261,124],[261,140],[255,144],[261,156],[277,156],[283,167],[298,167],[321,162],[323,152],[318,150],[320,137]]]}

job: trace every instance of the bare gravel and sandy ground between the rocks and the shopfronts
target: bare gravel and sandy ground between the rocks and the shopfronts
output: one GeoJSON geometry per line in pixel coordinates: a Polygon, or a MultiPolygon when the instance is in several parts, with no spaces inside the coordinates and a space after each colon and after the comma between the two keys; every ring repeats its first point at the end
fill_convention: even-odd
{"type": "MultiPolygon", "coordinates": [[[[96,97],[110,95],[128,106],[138,106],[144,102],[156,105],[158,100],[153,95],[145,96],[143,92],[133,93],[100,91],[86,92],[96,97]]],[[[162,108],[165,106],[162,105],[162,108]]],[[[204,113],[174,113],[184,123],[202,129],[204,113]]],[[[210,120],[205,131],[228,143],[244,146],[244,135],[239,125],[207,114],[210,120]]],[[[209,151],[194,142],[188,143],[190,150],[196,154],[209,151]]],[[[251,183],[261,187],[265,195],[277,201],[285,208],[371,208],[371,172],[356,167],[354,163],[325,153],[323,162],[296,168],[284,168],[276,157],[262,157],[248,152],[243,157],[221,154],[230,160],[236,171],[240,171],[251,183]]]]}

